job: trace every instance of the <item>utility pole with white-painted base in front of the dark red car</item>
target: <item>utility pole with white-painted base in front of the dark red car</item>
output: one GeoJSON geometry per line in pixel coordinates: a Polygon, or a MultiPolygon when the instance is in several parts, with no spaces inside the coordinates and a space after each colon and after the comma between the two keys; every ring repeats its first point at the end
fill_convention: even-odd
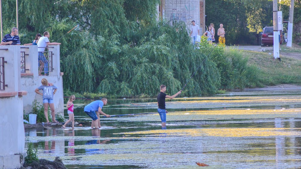
{"type": "Polygon", "coordinates": [[[280,61],[279,56],[279,38],[278,38],[278,2],[277,0],[273,0],[273,37],[274,37],[274,59],[278,59],[280,61]]]}

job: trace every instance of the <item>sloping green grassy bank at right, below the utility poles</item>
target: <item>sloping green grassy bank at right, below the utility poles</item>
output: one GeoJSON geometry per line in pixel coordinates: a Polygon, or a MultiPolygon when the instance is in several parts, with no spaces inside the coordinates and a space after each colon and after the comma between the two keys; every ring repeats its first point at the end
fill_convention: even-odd
{"type": "MultiPolygon", "coordinates": [[[[295,52],[295,49],[290,49],[295,52]]],[[[286,51],[287,52],[287,51],[286,51]]],[[[301,52],[301,50],[297,50],[301,52]]],[[[259,82],[261,85],[272,86],[276,84],[301,84],[301,62],[298,59],[281,56],[281,62],[273,59],[273,55],[265,52],[243,51],[248,57],[248,64],[259,69],[259,82]]],[[[262,87],[259,85],[259,87],[262,87]]]]}

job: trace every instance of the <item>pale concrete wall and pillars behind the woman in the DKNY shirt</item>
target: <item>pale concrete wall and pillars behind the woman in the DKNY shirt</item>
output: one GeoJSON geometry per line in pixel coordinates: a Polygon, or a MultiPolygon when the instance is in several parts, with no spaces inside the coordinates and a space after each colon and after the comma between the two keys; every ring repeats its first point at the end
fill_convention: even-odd
{"type": "MultiPolygon", "coordinates": [[[[52,57],[52,72],[48,76],[38,75],[38,48],[37,45],[21,45],[21,50],[24,50],[28,57],[26,57],[26,73],[21,73],[21,89],[27,91],[24,96],[23,106],[25,113],[32,112],[32,103],[36,99],[41,105],[43,104],[42,96],[36,94],[34,90],[42,85],[42,78],[46,78],[49,83],[53,83],[57,87],[57,92],[54,94],[54,109],[55,112],[64,115],[64,94],[63,94],[63,78],[60,67],[60,44],[48,44],[49,51],[53,52],[52,57]]],[[[42,91],[40,91],[42,92],[42,91]]]]}

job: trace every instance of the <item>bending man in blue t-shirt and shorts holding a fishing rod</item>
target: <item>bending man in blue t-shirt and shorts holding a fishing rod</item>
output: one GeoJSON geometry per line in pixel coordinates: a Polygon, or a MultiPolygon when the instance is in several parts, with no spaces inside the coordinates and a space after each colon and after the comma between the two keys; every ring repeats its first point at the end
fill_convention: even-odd
{"type": "Polygon", "coordinates": [[[106,98],[102,98],[101,100],[96,100],[85,106],[85,113],[92,118],[91,128],[93,128],[94,126],[95,128],[100,128],[99,114],[105,115],[106,117],[111,117],[110,115],[107,115],[101,110],[102,106],[107,104],[107,101],[108,100],[106,98]]]}

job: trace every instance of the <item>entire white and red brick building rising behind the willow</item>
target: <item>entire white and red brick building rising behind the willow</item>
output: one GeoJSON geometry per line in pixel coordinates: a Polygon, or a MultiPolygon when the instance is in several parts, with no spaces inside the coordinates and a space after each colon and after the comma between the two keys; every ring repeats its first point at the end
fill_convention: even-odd
{"type": "Polygon", "coordinates": [[[205,32],[205,0],[161,0],[157,11],[158,19],[181,20],[188,28],[191,26],[191,21],[195,20],[200,26],[200,33],[205,32]]]}

